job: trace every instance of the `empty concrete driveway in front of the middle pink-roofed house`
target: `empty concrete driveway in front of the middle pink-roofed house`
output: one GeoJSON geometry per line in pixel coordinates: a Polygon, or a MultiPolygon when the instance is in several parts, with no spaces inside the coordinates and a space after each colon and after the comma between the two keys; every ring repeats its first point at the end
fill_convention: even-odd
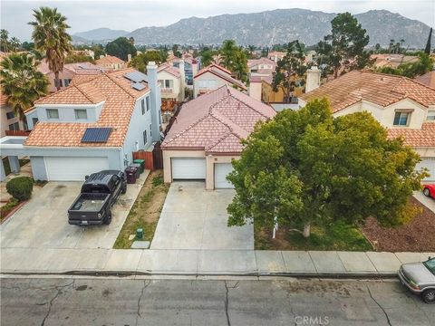
{"type": "Polygon", "coordinates": [[[234,195],[205,190],[203,182],[172,183],[151,249],[254,249],[253,225],[227,226],[234,195]]]}

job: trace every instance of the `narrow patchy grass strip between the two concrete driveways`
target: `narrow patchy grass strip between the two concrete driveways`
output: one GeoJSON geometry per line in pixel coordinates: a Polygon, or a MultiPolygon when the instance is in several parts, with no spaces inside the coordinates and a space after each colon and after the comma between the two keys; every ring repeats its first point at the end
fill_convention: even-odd
{"type": "Polygon", "coordinates": [[[135,240],[152,240],[168,190],[169,185],[163,182],[163,171],[150,172],[113,248],[130,249],[135,240]],[[143,238],[131,238],[138,228],[143,229],[143,238]]]}

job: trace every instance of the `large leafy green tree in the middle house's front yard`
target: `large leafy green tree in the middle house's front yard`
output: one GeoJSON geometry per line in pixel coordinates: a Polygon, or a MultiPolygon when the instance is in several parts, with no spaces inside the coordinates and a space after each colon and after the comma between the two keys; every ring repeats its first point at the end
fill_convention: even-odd
{"type": "Polygon", "coordinates": [[[406,220],[407,200],[426,176],[414,171],[418,154],[402,139],[387,139],[370,113],[333,119],[325,99],[279,112],[243,143],[227,177],[236,188],[228,225],[254,220],[305,237],[311,225],[357,224],[368,216],[397,225],[406,220]]]}

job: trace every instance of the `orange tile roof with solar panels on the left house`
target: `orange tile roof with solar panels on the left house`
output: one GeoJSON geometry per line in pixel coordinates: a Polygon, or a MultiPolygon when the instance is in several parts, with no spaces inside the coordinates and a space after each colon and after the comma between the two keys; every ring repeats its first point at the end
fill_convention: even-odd
{"type": "MultiPolygon", "coordinates": [[[[121,147],[130,125],[136,100],[150,90],[148,87],[142,91],[131,88],[131,81],[123,75],[126,72],[134,71],[130,68],[116,72],[105,72],[94,76],[89,82],[74,83],[63,91],[57,91],[53,95],[37,101],[37,104],[80,104],[82,102],[78,101],[95,103],[103,100],[104,104],[100,117],[93,123],[37,123],[24,145],[38,147],[121,147]],[[113,131],[106,143],[82,143],[84,130],[89,127],[109,127],[113,131]]],[[[146,85],[145,82],[144,84],[146,85]]]]}

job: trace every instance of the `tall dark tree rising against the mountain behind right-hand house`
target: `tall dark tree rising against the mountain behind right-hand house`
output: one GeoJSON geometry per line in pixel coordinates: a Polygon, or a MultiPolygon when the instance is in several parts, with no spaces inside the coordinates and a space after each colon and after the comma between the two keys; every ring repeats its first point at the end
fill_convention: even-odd
{"type": "Polygon", "coordinates": [[[325,64],[335,78],[343,64],[353,59],[358,60],[364,47],[369,43],[369,35],[352,14],[337,14],[333,21],[332,33],[324,36],[324,41],[317,44],[317,53],[324,55],[325,64]]]}

